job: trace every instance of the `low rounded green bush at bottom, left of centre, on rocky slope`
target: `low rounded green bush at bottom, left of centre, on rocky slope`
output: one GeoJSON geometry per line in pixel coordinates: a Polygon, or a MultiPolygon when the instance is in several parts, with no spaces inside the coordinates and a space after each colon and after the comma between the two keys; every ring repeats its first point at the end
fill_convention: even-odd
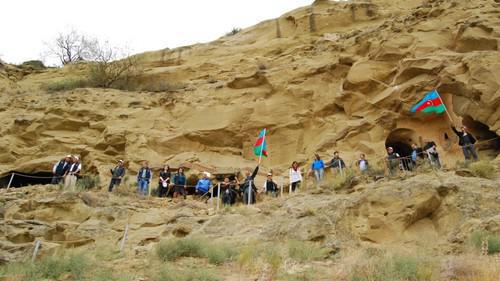
{"type": "Polygon", "coordinates": [[[163,261],[194,257],[206,258],[209,263],[220,265],[232,260],[237,253],[226,244],[209,243],[196,238],[181,238],[161,242],[156,248],[156,254],[163,261]]]}

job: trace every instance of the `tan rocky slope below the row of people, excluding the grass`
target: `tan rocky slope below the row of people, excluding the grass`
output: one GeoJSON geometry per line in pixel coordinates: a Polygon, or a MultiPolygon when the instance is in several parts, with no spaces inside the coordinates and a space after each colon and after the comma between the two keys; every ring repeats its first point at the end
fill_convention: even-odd
{"type": "MultiPolygon", "coordinates": [[[[383,260],[389,253],[441,257],[436,262],[439,274],[444,274],[450,258],[462,256],[467,264],[481,259],[481,264],[492,265],[484,276],[492,277],[500,266],[497,259],[481,257],[480,249],[471,246],[475,232],[500,233],[498,178],[433,172],[376,182],[361,180],[349,189],[327,186],[308,186],[282,198],[262,197],[255,206],[219,211],[215,203],[191,198],[180,202],[139,198],[126,186],[114,194],[104,190],[65,192],[57,186],[3,189],[1,258],[4,262],[29,259],[35,241],[42,241],[41,256],[74,248],[99,256],[104,249],[115,256],[101,262],[124,273],[126,280],[170,280],[155,279],[166,266],[153,257],[161,241],[203,238],[240,252],[216,266],[190,258],[172,265],[209,267],[218,276],[215,280],[358,280],[353,279],[352,271],[360,262],[383,260]],[[127,224],[128,239],[120,254],[127,224]],[[285,255],[275,271],[269,268],[269,261],[260,264],[257,257],[251,258],[255,265],[244,259],[245,247],[288,245],[291,241],[317,248],[324,256],[297,261],[285,255]],[[305,279],[285,279],[301,276],[305,279]]],[[[436,276],[436,272],[435,279],[415,280],[455,280],[440,279],[442,275],[436,276]]]]}

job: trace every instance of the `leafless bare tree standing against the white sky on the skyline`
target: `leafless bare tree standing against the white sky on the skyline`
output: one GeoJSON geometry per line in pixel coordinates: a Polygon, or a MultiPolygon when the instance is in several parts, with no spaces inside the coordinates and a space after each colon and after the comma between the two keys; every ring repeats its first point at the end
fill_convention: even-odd
{"type": "Polygon", "coordinates": [[[92,51],[97,44],[97,39],[73,29],[67,33],[59,33],[54,42],[45,43],[46,55],[56,57],[62,65],[93,60],[92,51]]]}

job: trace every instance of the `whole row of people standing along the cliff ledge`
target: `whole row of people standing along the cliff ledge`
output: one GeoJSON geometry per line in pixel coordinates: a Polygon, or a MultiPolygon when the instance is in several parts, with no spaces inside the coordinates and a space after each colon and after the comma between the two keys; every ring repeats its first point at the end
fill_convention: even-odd
{"type": "MultiPolygon", "coordinates": [[[[465,126],[460,128],[460,131],[452,126],[452,130],[459,138],[459,145],[466,160],[478,160],[478,155],[475,150],[474,144],[476,139],[466,129],[465,126]]],[[[394,151],[393,147],[387,147],[387,156],[385,162],[389,170],[389,174],[394,174],[397,170],[413,170],[419,165],[420,159],[427,158],[429,163],[436,167],[441,168],[439,153],[437,151],[436,143],[433,141],[427,142],[423,147],[416,144],[411,145],[411,154],[401,157],[399,153],[394,151]]],[[[361,173],[369,170],[370,166],[365,154],[360,154],[359,159],[355,162],[357,169],[361,173]]],[[[324,178],[324,171],[326,168],[331,168],[335,174],[343,175],[348,167],[344,160],[340,157],[338,151],[333,153],[333,158],[325,163],[318,154],[315,154],[309,174],[313,174],[316,184],[320,185],[324,178]]],[[[58,184],[64,179],[64,186],[72,188],[76,184],[77,176],[80,174],[82,165],[78,156],[67,155],[54,165],[52,183],[58,184]]],[[[222,197],[224,204],[232,205],[237,202],[238,198],[244,203],[255,203],[257,194],[265,193],[270,196],[276,197],[279,192],[278,184],[273,180],[272,171],[267,174],[266,181],[261,189],[258,189],[255,184],[255,177],[259,171],[257,166],[253,172],[249,170],[245,172],[243,179],[240,181],[238,175],[225,177],[220,182],[221,193],[217,196],[222,197]]],[[[110,169],[111,181],[109,183],[108,191],[112,192],[115,186],[121,184],[125,176],[125,167],[123,160],[118,160],[116,166],[110,169]]],[[[303,181],[303,173],[299,167],[299,163],[294,161],[289,169],[290,190],[295,192],[300,188],[303,181]]],[[[149,194],[149,186],[153,181],[153,171],[149,167],[147,161],[142,163],[141,168],[137,173],[137,190],[141,195],[149,194]]],[[[174,199],[187,195],[187,177],[184,174],[184,168],[180,167],[172,175],[170,166],[165,165],[158,174],[158,196],[166,197],[172,196],[174,199]]],[[[195,194],[200,198],[207,201],[211,197],[213,184],[211,174],[204,172],[202,177],[194,186],[195,194]]]]}

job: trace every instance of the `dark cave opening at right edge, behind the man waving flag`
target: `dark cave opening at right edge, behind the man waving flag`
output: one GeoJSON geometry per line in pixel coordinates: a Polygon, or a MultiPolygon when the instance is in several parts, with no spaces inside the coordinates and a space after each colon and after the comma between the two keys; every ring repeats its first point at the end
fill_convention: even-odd
{"type": "Polygon", "coordinates": [[[477,139],[478,150],[485,151],[493,157],[500,153],[500,138],[495,132],[490,131],[488,125],[476,121],[468,115],[463,117],[462,124],[477,139]]]}

